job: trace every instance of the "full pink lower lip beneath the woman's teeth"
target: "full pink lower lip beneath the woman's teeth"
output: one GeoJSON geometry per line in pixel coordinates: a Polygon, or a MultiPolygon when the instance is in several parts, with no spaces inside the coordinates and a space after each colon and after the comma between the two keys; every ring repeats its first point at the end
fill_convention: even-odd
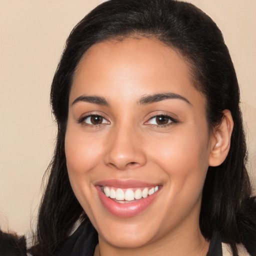
{"type": "Polygon", "coordinates": [[[159,190],[146,198],[138,199],[130,203],[118,203],[113,201],[111,198],[105,196],[105,194],[97,188],[99,199],[104,207],[113,215],[118,217],[132,217],[143,211],[149,204],[154,200],[159,190]]]}

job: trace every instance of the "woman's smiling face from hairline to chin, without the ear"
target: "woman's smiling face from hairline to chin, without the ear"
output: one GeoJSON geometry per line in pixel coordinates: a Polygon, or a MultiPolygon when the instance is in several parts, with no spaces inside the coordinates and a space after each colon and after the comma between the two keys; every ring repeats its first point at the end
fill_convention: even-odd
{"type": "Polygon", "coordinates": [[[94,44],[82,57],[65,154],[72,189],[99,239],[139,247],[199,232],[212,140],[205,98],[170,47],[127,38],[94,44]]]}

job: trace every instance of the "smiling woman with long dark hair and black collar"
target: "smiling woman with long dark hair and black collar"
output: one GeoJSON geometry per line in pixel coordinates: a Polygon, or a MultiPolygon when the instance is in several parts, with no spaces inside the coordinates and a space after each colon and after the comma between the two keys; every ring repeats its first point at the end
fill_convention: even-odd
{"type": "Polygon", "coordinates": [[[102,3],[70,33],[51,104],[32,255],[256,255],[238,83],[201,10],[102,3]]]}

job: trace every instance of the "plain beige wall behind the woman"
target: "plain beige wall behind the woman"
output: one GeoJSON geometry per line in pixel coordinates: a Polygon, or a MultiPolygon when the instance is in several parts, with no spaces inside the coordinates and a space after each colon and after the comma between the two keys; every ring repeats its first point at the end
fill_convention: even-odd
{"type": "MultiPolygon", "coordinates": [[[[256,0],[189,0],[218,24],[241,87],[256,169],[256,0]]],[[[71,28],[100,0],[0,0],[0,226],[30,233],[55,125],[49,88],[71,28]]],[[[255,172],[251,176],[255,178],[255,172]]],[[[254,181],[256,182],[256,181],[254,181]]]]}

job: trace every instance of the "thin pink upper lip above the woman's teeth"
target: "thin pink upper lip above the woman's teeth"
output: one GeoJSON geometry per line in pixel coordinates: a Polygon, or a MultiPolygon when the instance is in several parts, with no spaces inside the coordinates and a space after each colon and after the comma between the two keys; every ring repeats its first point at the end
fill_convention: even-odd
{"type": "Polygon", "coordinates": [[[113,186],[113,187],[120,187],[120,188],[129,188],[129,187],[154,187],[159,185],[158,183],[149,183],[141,180],[134,180],[134,179],[105,179],[100,180],[94,183],[94,185],[99,186],[113,186]]]}

